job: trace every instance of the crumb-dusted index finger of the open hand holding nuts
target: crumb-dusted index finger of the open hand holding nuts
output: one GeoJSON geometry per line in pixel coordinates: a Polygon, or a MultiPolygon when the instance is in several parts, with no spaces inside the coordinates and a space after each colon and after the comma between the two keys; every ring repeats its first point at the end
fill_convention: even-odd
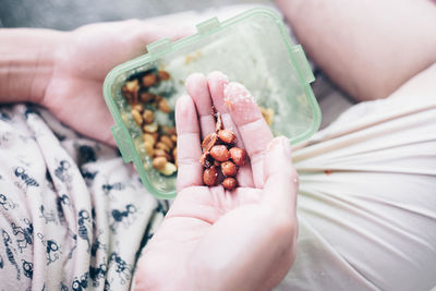
{"type": "Polygon", "coordinates": [[[251,159],[254,184],[256,187],[263,187],[264,156],[268,143],[274,137],[272,133],[253,96],[243,85],[229,83],[225,88],[225,104],[251,159]]]}

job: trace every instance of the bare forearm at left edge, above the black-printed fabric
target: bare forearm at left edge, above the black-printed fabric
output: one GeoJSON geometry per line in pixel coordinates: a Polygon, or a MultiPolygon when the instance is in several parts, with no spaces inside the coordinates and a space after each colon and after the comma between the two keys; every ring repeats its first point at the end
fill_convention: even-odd
{"type": "Polygon", "coordinates": [[[0,29],[0,102],[43,98],[62,36],[49,29],[0,29]]]}

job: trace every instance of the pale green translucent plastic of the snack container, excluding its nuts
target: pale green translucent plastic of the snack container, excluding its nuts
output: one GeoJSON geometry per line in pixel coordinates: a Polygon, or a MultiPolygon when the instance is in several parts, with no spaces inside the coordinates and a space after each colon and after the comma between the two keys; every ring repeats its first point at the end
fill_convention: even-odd
{"type": "Polygon", "coordinates": [[[184,81],[191,73],[221,71],[230,81],[245,85],[258,105],[274,110],[271,130],[275,135],[286,135],[293,143],[300,142],[314,131],[318,117],[311,104],[313,96],[306,95],[305,83],[292,62],[292,44],[286,43],[289,37],[281,35],[278,21],[270,13],[247,14],[233,23],[223,23],[218,32],[205,32],[174,43],[158,59],[145,58],[144,64],[120,70],[112,83],[111,96],[143,162],[143,167],[135,163],[137,171],[143,180],[147,175],[159,193],[175,191],[175,174],[168,178],[153,168],[143,146],[141,129],[133,121],[130,106],[121,95],[125,80],[152,68],[168,71],[171,82],[166,83],[167,88],[158,90],[167,90],[168,101],[174,108],[177,98],[185,94],[184,81]]]}

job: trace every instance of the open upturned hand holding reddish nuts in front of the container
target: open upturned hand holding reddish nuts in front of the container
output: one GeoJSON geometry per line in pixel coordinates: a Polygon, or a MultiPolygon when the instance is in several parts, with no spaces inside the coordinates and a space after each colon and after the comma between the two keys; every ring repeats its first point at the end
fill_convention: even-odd
{"type": "Polygon", "coordinates": [[[295,257],[298,175],[289,141],[272,140],[258,107],[241,98],[249,92],[221,73],[191,75],[186,89],[191,97],[175,108],[178,196],[138,260],[136,290],[271,289],[295,257]],[[203,185],[199,138],[215,130],[211,105],[251,160],[232,192],[203,185]]]}

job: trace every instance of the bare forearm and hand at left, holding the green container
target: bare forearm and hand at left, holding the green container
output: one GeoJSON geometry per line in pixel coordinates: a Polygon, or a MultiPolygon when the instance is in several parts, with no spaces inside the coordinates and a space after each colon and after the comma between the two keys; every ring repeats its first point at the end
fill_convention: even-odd
{"type": "Polygon", "coordinates": [[[130,20],[72,32],[0,29],[0,102],[41,105],[78,133],[114,146],[101,89],[106,75],[144,54],[147,44],[192,28],[130,20]]]}

